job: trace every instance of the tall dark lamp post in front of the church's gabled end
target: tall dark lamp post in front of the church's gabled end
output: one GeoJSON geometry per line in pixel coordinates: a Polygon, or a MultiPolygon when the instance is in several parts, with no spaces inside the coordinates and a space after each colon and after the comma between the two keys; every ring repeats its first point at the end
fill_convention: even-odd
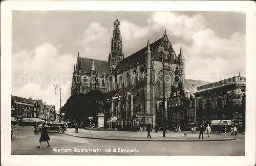
{"type": "Polygon", "coordinates": [[[165,137],[165,132],[166,132],[166,128],[165,128],[165,123],[166,123],[166,112],[165,112],[165,62],[166,62],[166,57],[167,57],[167,63],[168,66],[170,64],[172,64],[172,59],[171,59],[171,54],[169,53],[165,53],[164,51],[161,51],[161,58],[162,58],[162,65],[163,65],[163,137],[165,137]]]}

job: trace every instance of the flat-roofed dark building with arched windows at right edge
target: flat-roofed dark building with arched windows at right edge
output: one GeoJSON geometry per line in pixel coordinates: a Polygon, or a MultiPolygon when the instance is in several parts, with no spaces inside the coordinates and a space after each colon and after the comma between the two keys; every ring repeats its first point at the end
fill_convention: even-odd
{"type": "Polygon", "coordinates": [[[195,93],[196,122],[210,124],[211,120],[232,120],[232,126],[245,129],[245,82],[235,76],[197,87],[195,93]]]}

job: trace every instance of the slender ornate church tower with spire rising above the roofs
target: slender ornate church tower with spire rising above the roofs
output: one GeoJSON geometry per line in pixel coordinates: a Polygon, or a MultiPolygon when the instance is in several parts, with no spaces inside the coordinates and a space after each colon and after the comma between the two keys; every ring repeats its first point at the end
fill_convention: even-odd
{"type": "Polygon", "coordinates": [[[111,71],[113,71],[116,66],[124,59],[124,54],[122,51],[122,38],[120,33],[120,21],[117,18],[116,12],[116,20],[114,21],[114,30],[113,37],[111,41],[111,53],[109,54],[109,62],[111,71]]]}

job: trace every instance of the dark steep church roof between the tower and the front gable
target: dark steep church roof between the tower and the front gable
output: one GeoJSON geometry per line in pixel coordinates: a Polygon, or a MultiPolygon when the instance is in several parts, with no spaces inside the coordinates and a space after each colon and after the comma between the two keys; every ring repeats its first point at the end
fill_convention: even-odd
{"type": "MultiPolygon", "coordinates": [[[[160,44],[160,42],[162,41],[163,38],[160,38],[158,39],[157,41],[155,41],[154,43],[150,44],[150,48],[151,50],[155,50],[158,45],[160,44]]],[[[123,59],[118,65],[117,67],[115,68],[115,72],[118,71],[118,70],[121,70],[123,68],[126,68],[126,67],[129,67],[130,66],[130,63],[131,64],[135,64],[137,63],[138,61],[139,62],[144,62],[144,54],[147,50],[147,47],[145,46],[144,48],[142,48],[141,50],[133,53],[131,56],[129,57],[126,57],[125,59],[123,59]]]]}

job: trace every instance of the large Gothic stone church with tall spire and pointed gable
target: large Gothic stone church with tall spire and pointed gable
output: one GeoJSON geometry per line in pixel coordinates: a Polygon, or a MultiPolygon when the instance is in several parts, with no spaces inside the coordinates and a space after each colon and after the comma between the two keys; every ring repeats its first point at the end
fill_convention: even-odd
{"type": "Polygon", "coordinates": [[[156,110],[163,101],[163,72],[165,79],[167,78],[164,85],[166,99],[170,95],[175,71],[178,71],[182,79],[185,78],[182,48],[176,53],[165,31],[158,40],[153,43],[150,40],[145,41],[144,48],[124,57],[118,18],[114,21],[110,41],[111,52],[108,61],[81,58],[78,53],[71,94],[88,93],[90,90],[98,89],[106,93],[111,102],[112,117],[141,118],[141,114],[137,113],[142,113],[143,118],[147,115],[146,123],[155,127],[156,110]],[[163,59],[163,55],[168,55],[169,59],[163,59]]]}

